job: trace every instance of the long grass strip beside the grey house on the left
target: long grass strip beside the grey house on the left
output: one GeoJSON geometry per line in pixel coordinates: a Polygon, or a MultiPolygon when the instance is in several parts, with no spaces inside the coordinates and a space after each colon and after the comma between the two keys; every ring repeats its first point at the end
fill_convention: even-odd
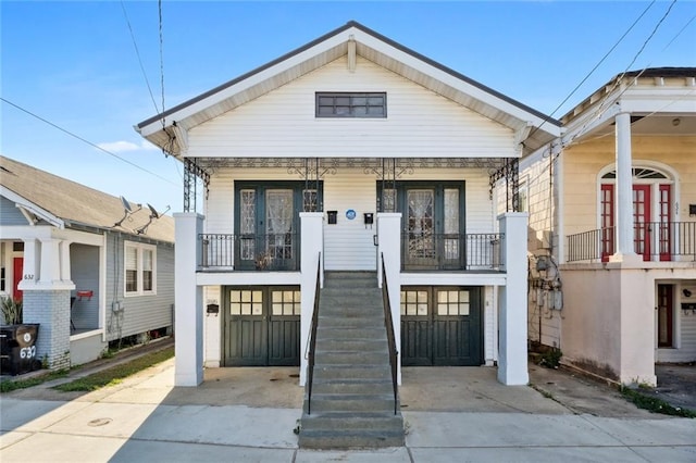
{"type": "Polygon", "coordinates": [[[89,392],[102,387],[114,386],[124,378],[174,356],[174,347],[145,354],[122,365],[112,366],[101,372],[53,387],[53,389],[72,392],[89,392]]]}

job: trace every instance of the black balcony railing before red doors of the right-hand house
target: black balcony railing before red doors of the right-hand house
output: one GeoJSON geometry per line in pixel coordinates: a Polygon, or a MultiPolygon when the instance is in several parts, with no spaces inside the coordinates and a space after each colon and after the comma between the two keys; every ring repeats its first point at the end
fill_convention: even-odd
{"type": "MultiPolygon", "coordinates": [[[[607,261],[617,250],[616,228],[567,237],[567,261],[607,261]]],[[[696,260],[696,222],[646,222],[633,226],[633,250],[644,261],[696,260]]]]}

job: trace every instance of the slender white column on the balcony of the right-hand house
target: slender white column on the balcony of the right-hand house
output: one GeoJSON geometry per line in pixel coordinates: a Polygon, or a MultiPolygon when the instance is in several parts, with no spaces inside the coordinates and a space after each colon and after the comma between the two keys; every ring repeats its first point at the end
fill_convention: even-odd
{"type": "Polygon", "coordinates": [[[633,247],[633,172],[631,162],[631,114],[616,116],[617,189],[616,189],[616,253],[611,262],[637,260],[633,247]]]}

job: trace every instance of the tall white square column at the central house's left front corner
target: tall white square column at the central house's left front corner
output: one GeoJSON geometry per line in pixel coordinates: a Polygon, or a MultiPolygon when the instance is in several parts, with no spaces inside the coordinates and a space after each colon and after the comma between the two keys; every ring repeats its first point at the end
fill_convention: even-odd
{"type": "Polygon", "coordinates": [[[203,381],[203,291],[196,283],[203,216],[174,214],[174,386],[203,381]]]}

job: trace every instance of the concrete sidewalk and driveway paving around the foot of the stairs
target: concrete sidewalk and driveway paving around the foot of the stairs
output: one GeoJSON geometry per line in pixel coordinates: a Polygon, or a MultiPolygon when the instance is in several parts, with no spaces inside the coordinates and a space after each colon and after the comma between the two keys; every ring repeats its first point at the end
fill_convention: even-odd
{"type": "Polygon", "coordinates": [[[0,460],[696,461],[696,420],[650,414],[536,365],[531,383],[545,393],[502,386],[492,367],[403,368],[406,447],[332,452],[297,447],[296,367],[211,368],[201,386],[174,388],[173,366],[86,395],[47,387],[3,395],[0,460]]]}

